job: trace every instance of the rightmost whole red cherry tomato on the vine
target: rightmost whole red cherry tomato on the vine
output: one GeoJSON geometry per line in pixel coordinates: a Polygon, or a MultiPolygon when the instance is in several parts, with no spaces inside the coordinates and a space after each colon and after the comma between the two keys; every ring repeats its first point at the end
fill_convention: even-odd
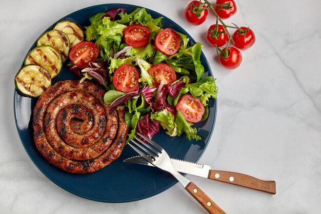
{"type": "Polygon", "coordinates": [[[250,28],[240,27],[233,33],[233,41],[235,47],[246,50],[255,43],[254,32],[250,28]]]}

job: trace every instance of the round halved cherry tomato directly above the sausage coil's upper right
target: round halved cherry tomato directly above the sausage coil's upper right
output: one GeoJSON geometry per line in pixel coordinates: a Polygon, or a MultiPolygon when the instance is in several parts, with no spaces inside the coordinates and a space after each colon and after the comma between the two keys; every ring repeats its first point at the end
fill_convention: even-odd
{"type": "Polygon", "coordinates": [[[117,68],[113,76],[113,85],[118,91],[125,93],[138,89],[139,73],[134,66],[121,65],[117,68]]]}

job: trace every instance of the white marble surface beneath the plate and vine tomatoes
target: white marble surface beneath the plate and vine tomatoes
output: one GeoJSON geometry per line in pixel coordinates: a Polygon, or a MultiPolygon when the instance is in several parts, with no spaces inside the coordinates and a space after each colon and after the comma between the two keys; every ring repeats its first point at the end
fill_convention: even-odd
{"type": "Polygon", "coordinates": [[[0,7],[0,213],[206,213],[176,184],[154,197],[121,204],[63,190],[32,163],[19,140],[13,79],[36,38],[84,7],[129,3],[156,10],[205,44],[219,87],[215,129],[199,162],[275,180],[275,195],[187,176],[227,213],[319,213],[321,201],[321,7],[310,1],[236,1],[227,23],[250,26],[255,45],[233,71],[219,66],[204,39],[214,23],[189,25],[189,1],[3,1],[0,7]]]}

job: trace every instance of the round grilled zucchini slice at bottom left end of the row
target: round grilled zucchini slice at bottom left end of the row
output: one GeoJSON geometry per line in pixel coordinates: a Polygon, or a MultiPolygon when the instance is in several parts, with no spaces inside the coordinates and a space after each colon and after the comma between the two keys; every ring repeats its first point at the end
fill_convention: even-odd
{"type": "Polygon", "coordinates": [[[36,98],[51,86],[51,76],[38,65],[27,65],[14,77],[15,87],[25,96],[36,98]]]}

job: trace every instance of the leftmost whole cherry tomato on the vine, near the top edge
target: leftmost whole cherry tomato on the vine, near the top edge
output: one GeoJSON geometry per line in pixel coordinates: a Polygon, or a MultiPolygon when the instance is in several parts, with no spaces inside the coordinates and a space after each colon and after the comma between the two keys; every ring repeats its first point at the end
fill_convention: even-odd
{"type": "Polygon", "coordinates": [[[207,18],[207,7],[199,1],[191,2],[185,9],[185,17],[192,25],[200,25],[207,18]]]}

